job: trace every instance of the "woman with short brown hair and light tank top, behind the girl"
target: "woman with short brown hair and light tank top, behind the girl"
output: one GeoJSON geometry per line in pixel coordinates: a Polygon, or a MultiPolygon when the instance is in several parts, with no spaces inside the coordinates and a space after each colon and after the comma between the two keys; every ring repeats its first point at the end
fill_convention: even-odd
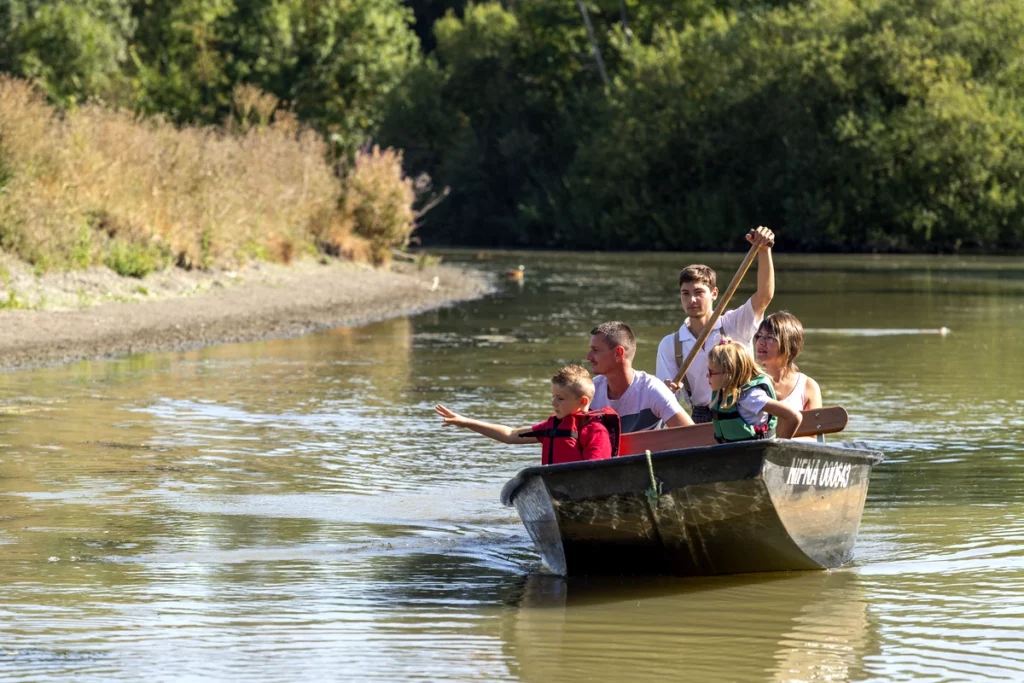
{"type": "Polygon", "coordinates": [[[811,411],[821,408],[821,388],[794,362],[803,349],[804,326],[784,310],[767,316],[754,335],[754,352],[771,377],[778,400],[798,411],[811,411]]]}

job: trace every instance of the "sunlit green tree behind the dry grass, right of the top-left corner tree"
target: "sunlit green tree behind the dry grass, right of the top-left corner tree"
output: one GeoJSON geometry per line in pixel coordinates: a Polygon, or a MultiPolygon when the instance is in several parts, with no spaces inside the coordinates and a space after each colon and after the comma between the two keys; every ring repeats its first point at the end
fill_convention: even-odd
{"type": "Polygon", "coordinates": [[[253,84],[352,150],[419,62],[398,0],[134,0],[141,106],[219,122],[253,84]]]}

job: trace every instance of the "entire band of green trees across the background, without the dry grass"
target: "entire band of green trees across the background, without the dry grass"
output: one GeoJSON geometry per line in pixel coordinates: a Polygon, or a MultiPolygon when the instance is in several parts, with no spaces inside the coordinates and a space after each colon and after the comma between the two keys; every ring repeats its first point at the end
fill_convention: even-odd
{"type": "Polygon", "coordinates": [[[0,0],[0,71],[178,124],[255,86],[451,187],[434,243],[1024,248],[1019,0],[0,0]]]}

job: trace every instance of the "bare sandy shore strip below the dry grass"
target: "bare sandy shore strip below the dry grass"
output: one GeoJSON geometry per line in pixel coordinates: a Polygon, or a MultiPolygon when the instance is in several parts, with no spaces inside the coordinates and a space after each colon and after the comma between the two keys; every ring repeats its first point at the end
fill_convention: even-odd
{"type": "Polygon", "coordinates": [[[136,280],[105,268],[36,276],[7,260],[2,274],[0,370],[297,337],[478,298],[492,287],[455,266],[339,261],[171,268],[136,280]]]}

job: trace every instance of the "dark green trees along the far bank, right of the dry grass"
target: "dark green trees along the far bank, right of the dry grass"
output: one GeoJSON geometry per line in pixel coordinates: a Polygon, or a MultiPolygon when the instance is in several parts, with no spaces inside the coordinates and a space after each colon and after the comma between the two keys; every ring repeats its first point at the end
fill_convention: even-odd
{"type": "Polygon", "coordinates": [[[453,187],[429,234],[708,249],[1024,246],[1024,4],[468,5],[382,130],[453,187]],[[771,6],[777,5],[777,6],[771,6]],[[557,8],[556,8],[557,7],[557,8]]]}

